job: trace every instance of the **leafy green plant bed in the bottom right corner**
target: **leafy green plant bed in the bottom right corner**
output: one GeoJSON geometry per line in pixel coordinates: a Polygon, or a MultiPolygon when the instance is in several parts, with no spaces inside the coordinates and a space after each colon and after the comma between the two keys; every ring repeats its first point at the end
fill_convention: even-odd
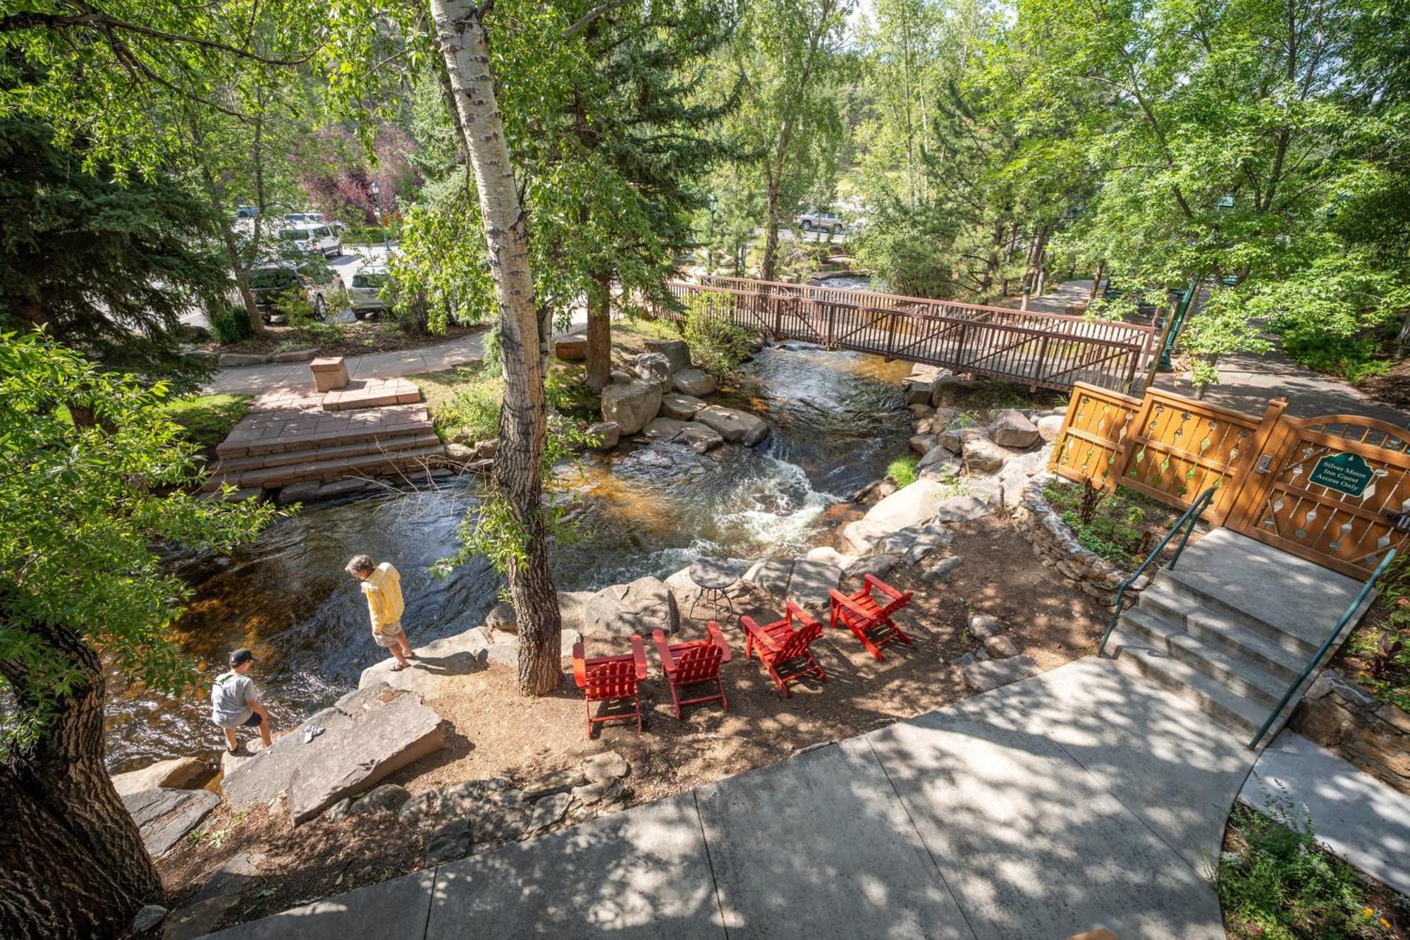
{"type": "Polygon", "coordinates": [[[1325,940],[1399,937],[1404,912],[1394,895],[1372,891],[1332,858],[1311,821],[1285,826],[1242,803],[1234,806],[1214,891],[1234,940],[1325,940]]]}

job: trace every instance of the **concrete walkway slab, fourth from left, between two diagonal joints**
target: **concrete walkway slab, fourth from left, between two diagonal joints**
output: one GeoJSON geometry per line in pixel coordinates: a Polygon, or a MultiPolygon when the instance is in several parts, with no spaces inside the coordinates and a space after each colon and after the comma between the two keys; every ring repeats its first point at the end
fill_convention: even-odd
{"type": "Polygon", "coordinates": [[[974,934],[1222,940],[1204,878],[1014,713],[1000,690],[866,735],[974,934]]]}

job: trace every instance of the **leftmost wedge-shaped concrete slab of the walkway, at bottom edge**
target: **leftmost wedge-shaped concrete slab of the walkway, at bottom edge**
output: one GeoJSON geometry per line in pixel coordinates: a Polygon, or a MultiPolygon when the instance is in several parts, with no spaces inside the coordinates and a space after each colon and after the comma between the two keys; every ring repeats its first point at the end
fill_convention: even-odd
{"type": "MultiPolygon", "coordinates": [[[[436,869],[382,881],[243,923],[209,940],[413,940],[426,932],[436,869]]],[[[527,936],[527,934],[526,934],[527,936]]]]}

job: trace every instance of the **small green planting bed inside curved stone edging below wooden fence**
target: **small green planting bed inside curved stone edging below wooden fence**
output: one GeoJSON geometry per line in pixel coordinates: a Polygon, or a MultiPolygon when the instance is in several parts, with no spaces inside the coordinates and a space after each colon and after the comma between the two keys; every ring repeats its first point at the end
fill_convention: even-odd
{"type": "Polygon", "coordinates": [[[1145,560],[1184,512],[1139,493],[1117,488],[1103,495],[1090,518],[1084,519],[1083,488],[1067,480],[1049,483],[1043,487],[1043,497],[1084,549],[1128,572],[1145,560]]]}

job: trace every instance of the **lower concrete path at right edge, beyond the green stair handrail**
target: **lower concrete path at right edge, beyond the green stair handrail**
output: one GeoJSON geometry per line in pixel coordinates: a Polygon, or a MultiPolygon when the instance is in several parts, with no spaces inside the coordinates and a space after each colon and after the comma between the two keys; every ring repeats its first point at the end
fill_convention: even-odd
{"type": "Polygon", "coordinates": [[[1410,796],[1293,731],[1253,765],[1239,799],[1273,814],[1311,819],[1317,841],[1410,896],[1410,796]]]}

